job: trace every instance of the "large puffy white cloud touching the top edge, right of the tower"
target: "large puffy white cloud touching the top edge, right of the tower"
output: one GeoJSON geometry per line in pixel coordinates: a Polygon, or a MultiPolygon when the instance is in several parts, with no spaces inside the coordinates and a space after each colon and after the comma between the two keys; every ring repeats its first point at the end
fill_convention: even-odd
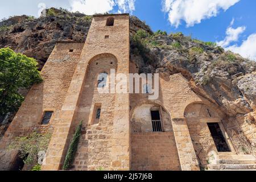
{"type": "Polygon", "coordinates": [[[168,13],[169,21],[178,27],[181,20],[187,27],[201,23],[201,20],[217,16],[223,9],[228,10],[240,0],[162,0],[163,11],[168,13]]]}

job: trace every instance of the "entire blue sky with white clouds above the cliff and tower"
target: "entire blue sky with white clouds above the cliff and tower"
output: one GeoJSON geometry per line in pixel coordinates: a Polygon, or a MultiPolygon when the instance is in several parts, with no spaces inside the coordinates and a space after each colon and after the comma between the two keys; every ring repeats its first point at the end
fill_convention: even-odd
{"type": "Polygon", "coordinates": [[[44,6],[85,14],[131,13],[154,31],[183,32],[256,60],[253,0],[9,0],[1,2],[0,19],[22,14],[38,16],[44,6]]]}

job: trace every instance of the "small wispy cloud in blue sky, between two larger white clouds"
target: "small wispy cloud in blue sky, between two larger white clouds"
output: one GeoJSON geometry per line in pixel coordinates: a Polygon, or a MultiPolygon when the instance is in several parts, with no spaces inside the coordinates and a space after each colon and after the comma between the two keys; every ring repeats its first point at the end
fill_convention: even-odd
{"type": "Polygon", "coordinates": [[[230,43],[232,42],[237,42],[240,35],[245,31],[246,27],[238,27],[238,28],[233,28],[234,24],[234,19],[230,23],[230,26],[226,30],[226,38],[220,42],[217,42],[217,44],[221,47],[227,47],[229,46],[230,43]]]}

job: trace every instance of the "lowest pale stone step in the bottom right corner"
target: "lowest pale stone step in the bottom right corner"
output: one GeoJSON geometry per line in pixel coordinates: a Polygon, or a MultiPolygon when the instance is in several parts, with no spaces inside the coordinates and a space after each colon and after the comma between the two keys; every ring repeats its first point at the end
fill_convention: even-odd
{"type": "Polygon", "coordinates": [[[256,164],[209,164],[209,170],[251,170],[256,169],[256,164]]]}

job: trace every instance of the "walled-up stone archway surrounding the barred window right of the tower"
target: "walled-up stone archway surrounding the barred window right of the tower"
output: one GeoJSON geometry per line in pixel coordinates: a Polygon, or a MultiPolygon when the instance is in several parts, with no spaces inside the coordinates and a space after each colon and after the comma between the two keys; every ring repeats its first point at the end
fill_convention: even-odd
{"type": "Polygon", "coordinates": [[[170,113],[155,102],[143,102],[131,110],[131,169],[180,170],[170,113]],[[163,132],[153,132],[151,110],[158,110],[163,132]]]}

